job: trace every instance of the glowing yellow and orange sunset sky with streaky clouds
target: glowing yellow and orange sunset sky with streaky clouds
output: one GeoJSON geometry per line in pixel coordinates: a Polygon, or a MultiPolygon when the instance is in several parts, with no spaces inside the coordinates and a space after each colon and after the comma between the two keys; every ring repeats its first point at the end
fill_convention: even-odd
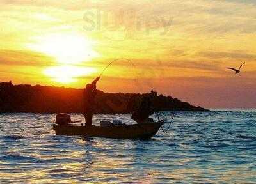
{"type": "Polygon", "coordinates": [[[119,59],[98,89],[256,108],[254,0],[1,0],[0,40],[0,81],[83,88],[119,59]]]}

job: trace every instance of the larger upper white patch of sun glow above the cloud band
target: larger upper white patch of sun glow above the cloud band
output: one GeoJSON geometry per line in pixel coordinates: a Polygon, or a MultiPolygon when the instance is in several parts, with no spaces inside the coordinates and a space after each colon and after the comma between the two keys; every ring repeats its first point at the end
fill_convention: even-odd
{"type": "Polygon", "coordinates": [[[99,56],[93,50],[94,42],[79,34],[50,34],[37,40],[30,49],[52,56],[58,63],[76,64],[99,56]]]}

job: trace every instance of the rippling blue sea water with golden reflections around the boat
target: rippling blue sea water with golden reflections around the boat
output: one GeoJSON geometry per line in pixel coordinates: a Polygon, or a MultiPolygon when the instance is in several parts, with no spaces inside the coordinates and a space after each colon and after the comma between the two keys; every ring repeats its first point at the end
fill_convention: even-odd
{"type": "Polygon", "coordinates": [[[256,183],[256,111],[177,112],[146,141],[55,135],[54,118],[0,114],[0,183],[256,183]]]}

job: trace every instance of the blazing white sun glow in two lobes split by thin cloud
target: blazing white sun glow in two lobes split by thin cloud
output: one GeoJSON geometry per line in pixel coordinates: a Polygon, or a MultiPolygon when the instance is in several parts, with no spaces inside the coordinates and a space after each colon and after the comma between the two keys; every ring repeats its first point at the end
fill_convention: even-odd
{"type": "Polygon", "coordinates": [[[95,68],[75,66],[91,61],[99,54],[93,50],[93,41],[80,34],[49,34],[35,38],[29,44],[31,50],[46,54],[55,59],[58,66],[49,66],[43,73],[60,83],[76,82],[78,77],[85,77],[95,72],[95,68]]]}

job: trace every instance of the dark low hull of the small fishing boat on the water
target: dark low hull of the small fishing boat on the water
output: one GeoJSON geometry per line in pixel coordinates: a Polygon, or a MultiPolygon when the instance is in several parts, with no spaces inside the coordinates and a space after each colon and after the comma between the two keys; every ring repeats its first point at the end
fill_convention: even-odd
{"type": "Polygon", "coordinates": [[[108,127],[53,124],[52,127],[56,135],[83,135],[86,137],[106,137],[113,139],[150,139],[156,135],[161,125],[163,123],[159,122],[108,127]]]}

